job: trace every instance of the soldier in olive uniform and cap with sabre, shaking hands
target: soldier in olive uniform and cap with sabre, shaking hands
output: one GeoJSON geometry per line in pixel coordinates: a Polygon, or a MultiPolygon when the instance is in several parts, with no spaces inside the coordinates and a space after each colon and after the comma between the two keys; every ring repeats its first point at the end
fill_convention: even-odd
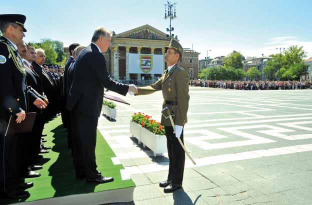
{"type": "Polygon", "coordinates": [[[174,38],[166,47],[165,61],[168,63],[161,77],[154,83],[144,87],[137,87],[137,95],[150,94],[161,90],[163,95],[162,108],[168,107],[173,116],[176,133],[169,118],[161,116],[161,125],[165,128],[167,137],[167,149],[169,156],[169,172],[166,181],[160,182],[164,192],[173,192],[182,186],[185,153],[178,142],[177,137],[183,141],[183,126],[187,122],[188,109],[188,81],[187,71],[178,64],[183,54],[183,48],[174,38]]]}

